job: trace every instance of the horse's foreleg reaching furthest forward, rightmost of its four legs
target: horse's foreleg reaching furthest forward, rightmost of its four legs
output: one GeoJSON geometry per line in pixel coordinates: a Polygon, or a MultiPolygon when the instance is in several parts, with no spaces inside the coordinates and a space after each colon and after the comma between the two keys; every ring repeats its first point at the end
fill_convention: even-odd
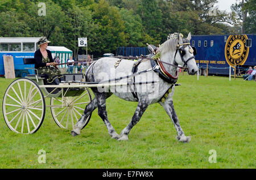
{"type": "Polygon", "coordinates": [[[164,103],[159,102],[159,104],[163,106],[164,110],[166,110],[166,113],[172,119],[172,122],[174,123],[177,131],[177,140],[179,140],[180,142],[188,143],[191,140],[191,137],[185,136],[182,128],[180,127],[179,119],[177,118],[177,114],[174,109],[174,101],[169,98],[164,103]]]}

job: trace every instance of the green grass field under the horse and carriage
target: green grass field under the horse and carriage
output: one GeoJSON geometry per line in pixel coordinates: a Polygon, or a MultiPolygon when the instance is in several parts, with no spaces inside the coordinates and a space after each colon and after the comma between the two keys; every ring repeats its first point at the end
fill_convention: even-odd
{"type": "MultiPolygon", "coordinates": [[[[13,80],[0,78],[2,99],[13,80]]],[[[180,76],[174,94],[176,113],[191,142],[176,140],[176,130],[162,106],[150,105],[134,126],[128,142],[110,139],[93,112],[80,136],[59,128],[49,108],[32,135],[9,130],[0,116],[0,168],[256,168],[256,83],[220,76],[180,76]],[[46,163],[38,162],[40,149],[46,163]],[[210,149],[217,162],[210,163],[210,149]]],[[[49,104],[49,99],[46,100],[49,104]]],[[[137,104],[108,98],[110,122],[117,131],[130,122],[137,104]]]]}

